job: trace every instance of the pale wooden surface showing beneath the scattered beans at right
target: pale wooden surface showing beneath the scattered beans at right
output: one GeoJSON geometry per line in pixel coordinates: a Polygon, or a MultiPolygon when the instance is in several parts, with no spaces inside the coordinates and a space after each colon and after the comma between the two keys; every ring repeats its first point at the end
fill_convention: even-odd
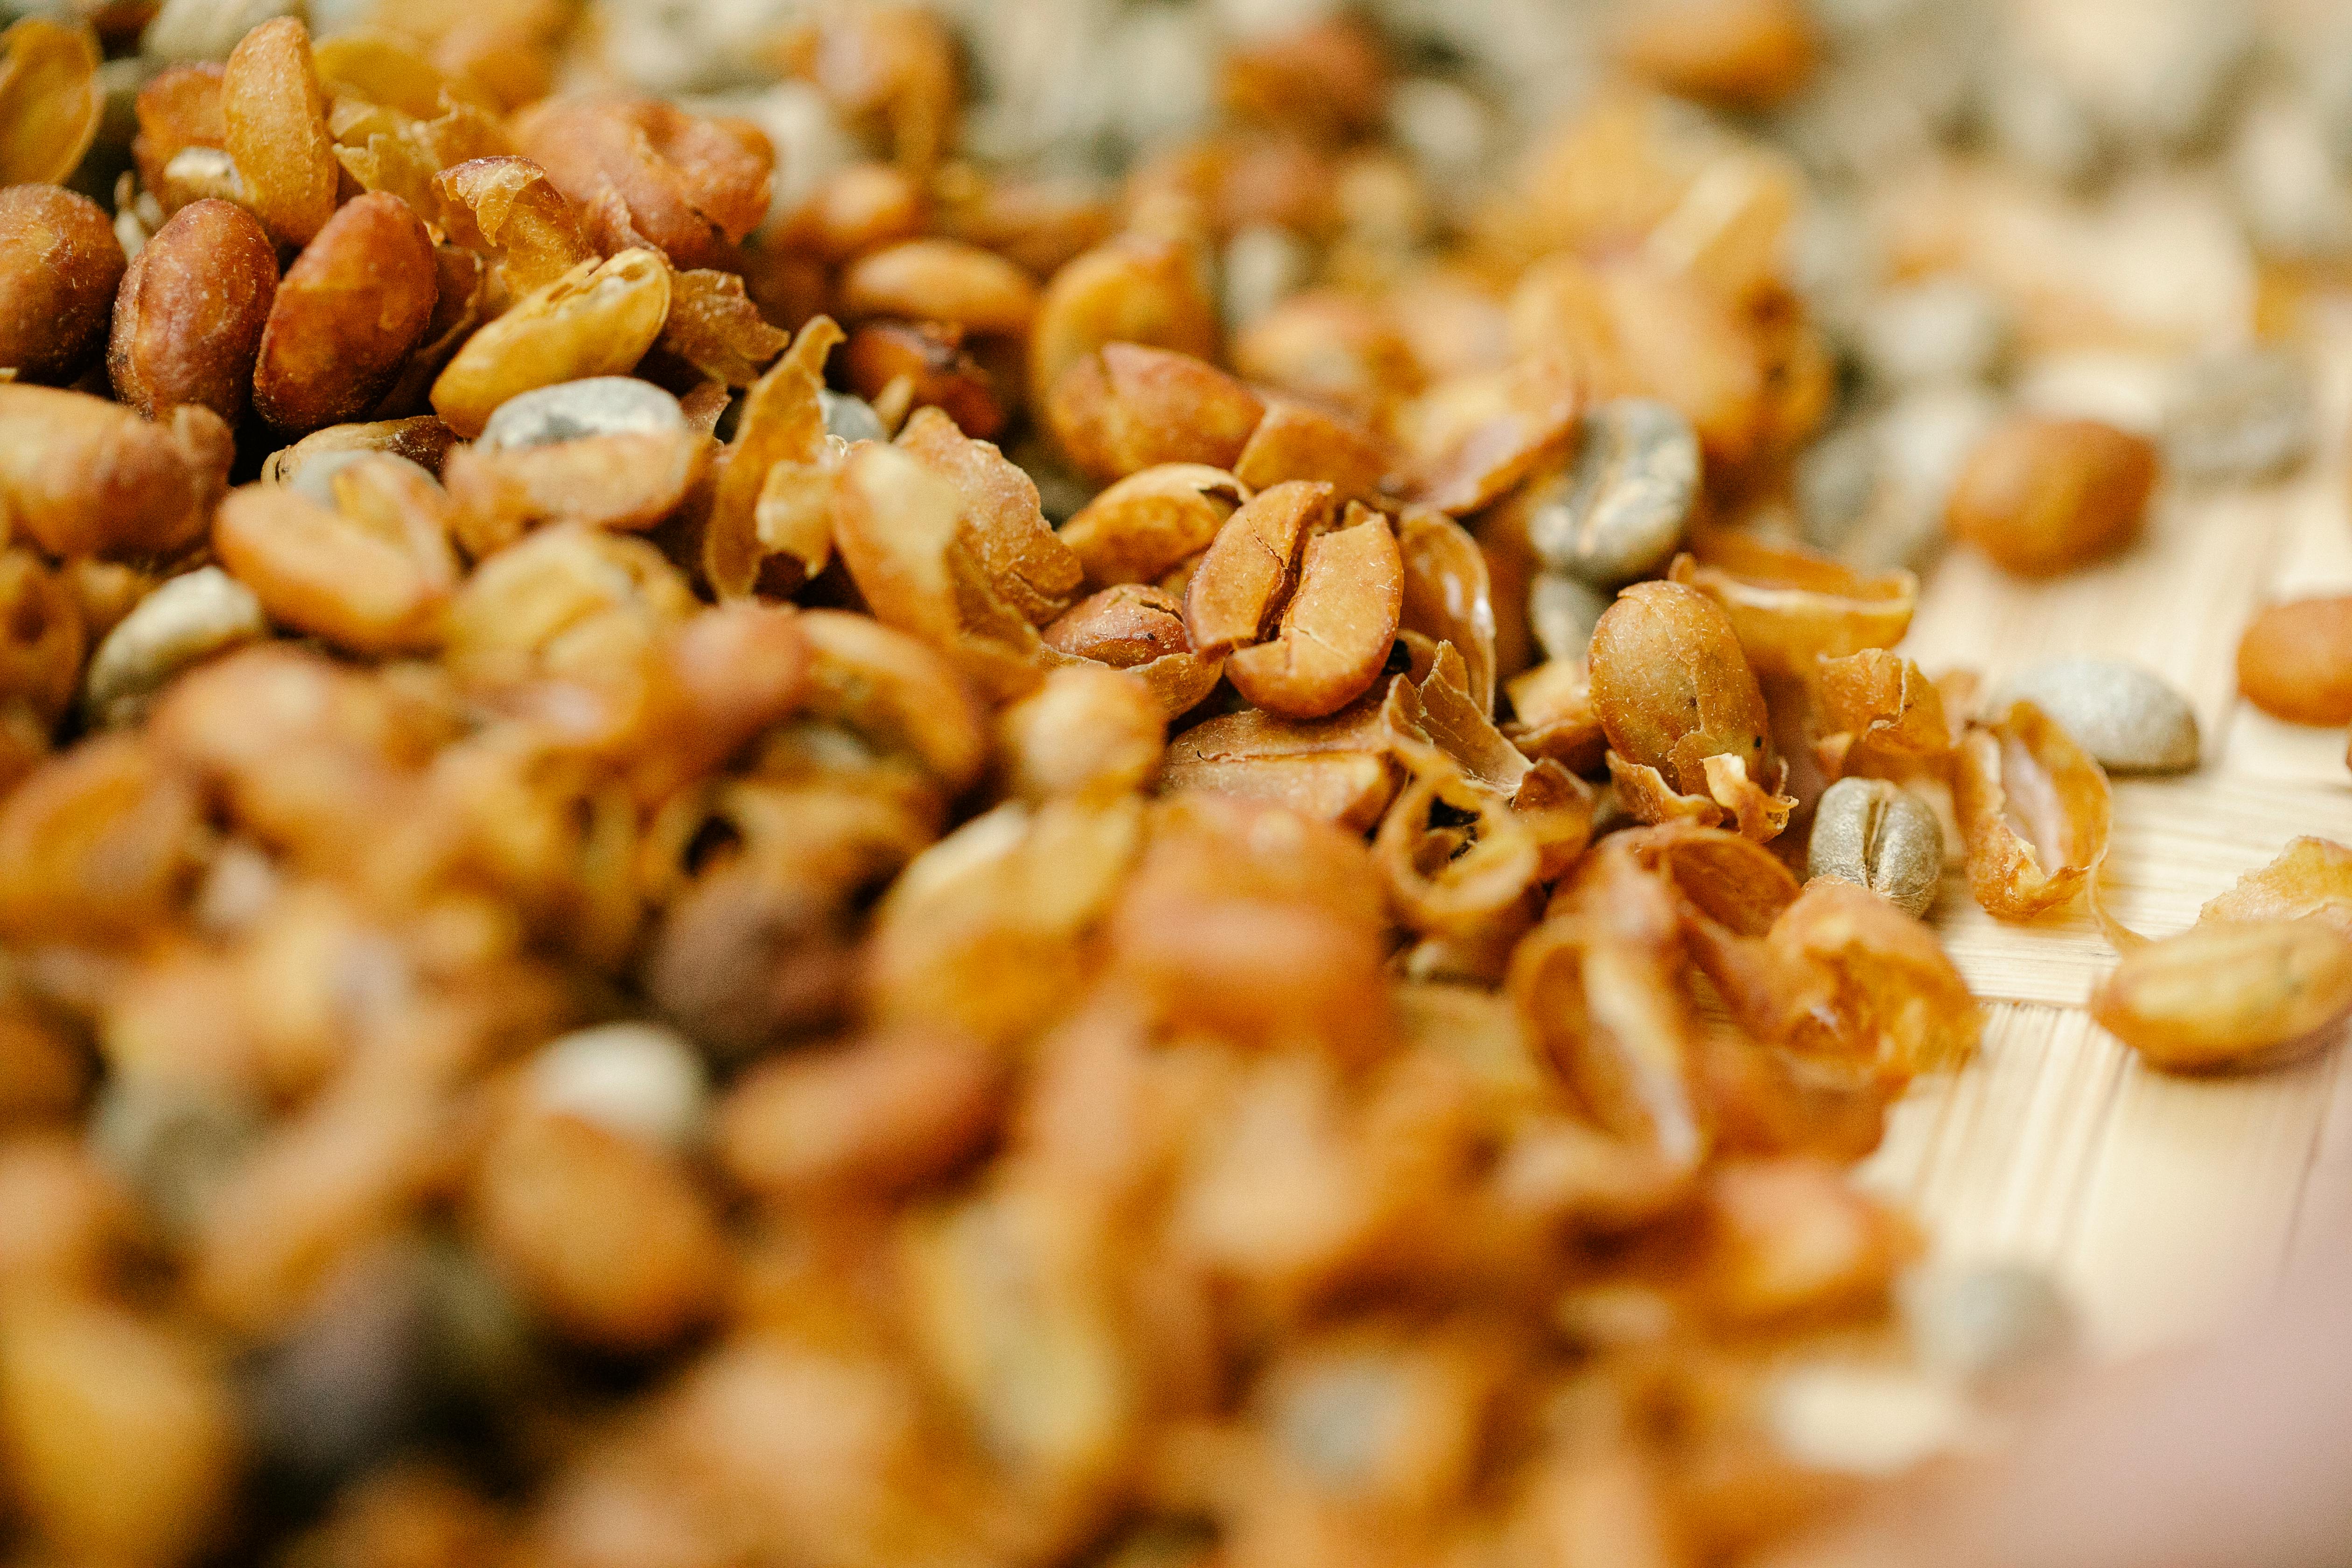
{"type": "MultiPolygon", "coordinates": [[[[2277,724],[2234,693],[2256,604],[2352,590],[2352,315],[2328,317],[2319,461],[2220,496],[2169,494],[2129,557],[2053,585],[1952,552],[1926,576],[1905,651],[1990,679],[2065,654],[2126,656],[2197,703],[2206,762],[2180,780],[2117,783],[2110,907],[2178,931],[2296,835],[2352,842],[2343,731],[2277,724]]],[[[1867,1180],[1907,1201],[1938,1255],[2053,1265],[2100,1352],[2197,1338],[2277,1276],[2300,1239],[2352,1244],[2352,1070],[2338,1046],[2284,1072],[2147,1072],[2084,1013],[2114,961],[2089,917],[2004,926],[1957,877],[1936,912],[1987,1001],[1983,1058],[1898,1107],[1867,1180]]]]}

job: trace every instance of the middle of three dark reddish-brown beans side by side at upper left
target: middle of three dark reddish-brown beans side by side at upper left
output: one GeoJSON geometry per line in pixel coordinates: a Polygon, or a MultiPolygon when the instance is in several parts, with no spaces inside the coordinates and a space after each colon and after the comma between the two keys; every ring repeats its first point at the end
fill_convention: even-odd
{"type": "Polygon", "coordinates": [[[245,418],[261,329],[278,299],[278,247],[254,214],[191,202],[155,230],[122,277],[106,369],[146,416],[198,402],[245,418]]]}

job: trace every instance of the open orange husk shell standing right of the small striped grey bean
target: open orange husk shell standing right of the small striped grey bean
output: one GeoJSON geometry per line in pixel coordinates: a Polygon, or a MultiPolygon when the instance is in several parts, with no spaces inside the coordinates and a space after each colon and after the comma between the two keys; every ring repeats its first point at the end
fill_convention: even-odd
{"type": "Polygon", "coordinates": [[[1952,766],[1969,886],[1985,912],[2032,919],[2084,891],[2107,858],[2107,773],[2032,703],[1971,724],[1952,766]]]}

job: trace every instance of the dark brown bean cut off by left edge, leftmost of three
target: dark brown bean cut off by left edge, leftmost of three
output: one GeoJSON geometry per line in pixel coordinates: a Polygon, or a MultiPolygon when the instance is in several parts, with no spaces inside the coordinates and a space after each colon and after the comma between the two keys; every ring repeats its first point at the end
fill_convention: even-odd
{"type": "Polygon", "coordinates": [[[96,202],[56,186],[0,188],[0,369],[73,381],[120,282],[122,244],[96,202]]]}

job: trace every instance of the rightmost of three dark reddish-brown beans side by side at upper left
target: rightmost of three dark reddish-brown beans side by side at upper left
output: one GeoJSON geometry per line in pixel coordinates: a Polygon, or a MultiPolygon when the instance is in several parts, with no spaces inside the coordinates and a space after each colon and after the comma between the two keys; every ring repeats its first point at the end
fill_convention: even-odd
{"type": "Polygon", "coordinates": [[[367,414],[433,320],[433,237],[397,195],[362,195],[287,268],[261,331],[254,411],[280,430],[367,414]]]}

